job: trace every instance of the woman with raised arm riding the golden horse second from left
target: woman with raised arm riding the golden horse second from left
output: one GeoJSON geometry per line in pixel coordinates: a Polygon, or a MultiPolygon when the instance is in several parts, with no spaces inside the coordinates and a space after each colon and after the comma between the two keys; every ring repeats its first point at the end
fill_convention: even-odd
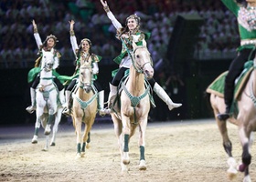
{"type": "Polygon", "coordinates": [[[69,98],[72,89],[77,83],[77,78],[79,76],[79,71],[80,71],[80,66],[82,65],[82,62],[84,61],[90,61],[92,64],[92,74],[93,74],[93,85],[96,87],[96,89],[99,92],[98,95],[98,109],[99,109],[99,114],[101,116],[105,115],[104,112],[104,90],[102,90],[101,85],[97,81],[97,74],[99,73],[99,66],[98,62],[101,61],[101,56],[97,56],[93,53],[91,53],[91,40],[88,38],[84,38],[80,41],[80,45],[77,43],[77,38],[75,36],[74,32],[74,20],[71,20],[69,22],[70,24],[70,42],[72,45],[72,49],[74,52],[74,55],[76,56],[76,69],[73,79],[69,83],[69,86],[67,87],[65,91],[66,95],[66,104],[65,104],[65,109],[63,110],[63,114],[69,116],[70,111],[69,111],[69,98]]]}

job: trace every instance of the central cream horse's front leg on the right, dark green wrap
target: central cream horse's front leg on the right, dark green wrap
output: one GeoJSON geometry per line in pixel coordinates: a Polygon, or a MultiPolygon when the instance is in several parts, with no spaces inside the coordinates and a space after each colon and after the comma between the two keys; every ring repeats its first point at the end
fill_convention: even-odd
{"type": "Polygon", "coordinates": [[[141,124],[139,125],[139,127],[140,127],[140,133],[139,133],[140,165],[139,165],[139,169],[140,170],[146,170],[145,158],[144,158],[144,145],[145,145],[144,136],[145,136],[146,125],[147,125],[147,119],[145,120],[145,122],[141,122],[141,124]]]}

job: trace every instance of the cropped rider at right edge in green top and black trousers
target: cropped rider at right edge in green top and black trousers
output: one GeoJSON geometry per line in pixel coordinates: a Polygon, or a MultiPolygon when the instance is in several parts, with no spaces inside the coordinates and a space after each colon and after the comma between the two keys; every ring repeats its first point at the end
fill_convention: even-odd
{"type": "Polygon", "coordinates": [[[234,82],[243,70],[244,63],[255,56],[256,44],[256,0],[222,0],[231,12],[237,16],[240,32],[240,47],[238,56],[229,66],[229,73],[225,78],[224,101],[225,113],[219,114],[219,120],[227,120],[234,97],[234,82]]]}

